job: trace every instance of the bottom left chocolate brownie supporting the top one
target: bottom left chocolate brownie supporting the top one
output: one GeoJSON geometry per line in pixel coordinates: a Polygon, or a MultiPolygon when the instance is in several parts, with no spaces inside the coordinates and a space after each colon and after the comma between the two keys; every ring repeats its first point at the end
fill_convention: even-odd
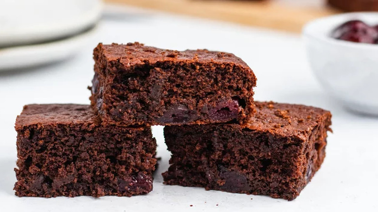
{"type": "Polygon", "coordinates": [[[89,105],[28,105],[17,117],[19,197],[132,196],[152,190],[151,128],[102,126],[89,105]]]}

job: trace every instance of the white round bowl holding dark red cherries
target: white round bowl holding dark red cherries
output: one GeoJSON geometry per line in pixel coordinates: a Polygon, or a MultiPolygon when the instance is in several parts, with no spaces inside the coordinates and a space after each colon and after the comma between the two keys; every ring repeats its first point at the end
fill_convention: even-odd
{"type": "Polygon", "coordinates": [[[347,13],[315,19],[303,28],[307,56],[315,76],[347,108],[378,115],[378,45],[331,38],[348,20],[378,24],[378,13],[347,13]]]}

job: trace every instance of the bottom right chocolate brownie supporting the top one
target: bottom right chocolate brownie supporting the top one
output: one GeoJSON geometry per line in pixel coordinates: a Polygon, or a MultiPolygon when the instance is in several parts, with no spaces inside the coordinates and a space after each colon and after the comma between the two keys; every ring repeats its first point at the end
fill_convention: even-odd
{"type": "Polygon", "coordinates": [[[256,102],[250,123],[166,126],[169,185],[293,200],[320,168],[329,111],[256,102]]]}

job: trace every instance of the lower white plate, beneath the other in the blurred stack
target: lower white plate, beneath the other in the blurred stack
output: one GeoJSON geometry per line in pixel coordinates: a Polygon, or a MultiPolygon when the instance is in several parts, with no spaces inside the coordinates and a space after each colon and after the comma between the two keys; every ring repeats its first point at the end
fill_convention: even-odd
{"type": "Polygon", "coordinates": [[[55,42],[0,48],[0,72],[62,61],[88,44],[95,29],[55,42]]]}

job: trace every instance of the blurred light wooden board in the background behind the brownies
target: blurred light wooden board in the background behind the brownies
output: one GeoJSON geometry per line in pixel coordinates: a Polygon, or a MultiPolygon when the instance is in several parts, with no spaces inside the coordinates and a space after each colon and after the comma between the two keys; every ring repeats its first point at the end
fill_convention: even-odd
{"type": "Polygon", "coordinates": [[[338,11],[326,6],[316,7],[306,4],[285,4],[277,0],[264,2],[248,0],[106,1],[291,32],[300,32],[302,26],[312,19],[338,13],[338,11]]]}

